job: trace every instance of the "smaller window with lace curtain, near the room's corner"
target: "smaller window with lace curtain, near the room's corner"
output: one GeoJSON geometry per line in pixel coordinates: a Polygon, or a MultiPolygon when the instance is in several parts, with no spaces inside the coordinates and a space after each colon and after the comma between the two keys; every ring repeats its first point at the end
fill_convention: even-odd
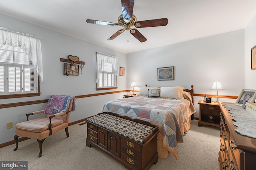
{"type": "Polygon", "coordinates": [[[118,58],[97,53],[97,90],[117,88],[118,58]]]}

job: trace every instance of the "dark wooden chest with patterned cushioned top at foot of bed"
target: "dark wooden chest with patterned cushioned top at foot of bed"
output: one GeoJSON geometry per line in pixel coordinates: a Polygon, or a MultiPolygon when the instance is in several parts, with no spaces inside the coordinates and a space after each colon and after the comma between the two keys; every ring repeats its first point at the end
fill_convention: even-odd
{"type": "Polygon", "coordinates": [[[86,122],[86,146],[101,149],[130,170],[148,170],[157,163],[158,126],[110,112],[86,122]]]}

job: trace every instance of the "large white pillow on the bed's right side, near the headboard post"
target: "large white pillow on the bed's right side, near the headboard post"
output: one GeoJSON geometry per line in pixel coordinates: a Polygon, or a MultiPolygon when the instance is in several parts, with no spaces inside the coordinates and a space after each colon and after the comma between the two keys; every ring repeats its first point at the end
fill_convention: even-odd
{"type": "Polygon", "coordinates": [[[160,88],[160,97],[161,98],[171,98],[171,99],[184,99],[183,89],[184,89],[184,87],[181,87],[181,86],[161,87],[160,88]]]}

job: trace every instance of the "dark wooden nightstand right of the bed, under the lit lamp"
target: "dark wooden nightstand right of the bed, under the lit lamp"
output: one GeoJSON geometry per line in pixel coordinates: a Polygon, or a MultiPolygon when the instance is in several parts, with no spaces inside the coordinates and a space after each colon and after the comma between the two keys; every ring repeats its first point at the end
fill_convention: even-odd
{"type": "Polygon", "coordinates": [[[200,117],[198,126],[211,125],[220,127],[220,106],[216,102],[206,103],[202,100],[198,102],[200,105],[200,117]]]}

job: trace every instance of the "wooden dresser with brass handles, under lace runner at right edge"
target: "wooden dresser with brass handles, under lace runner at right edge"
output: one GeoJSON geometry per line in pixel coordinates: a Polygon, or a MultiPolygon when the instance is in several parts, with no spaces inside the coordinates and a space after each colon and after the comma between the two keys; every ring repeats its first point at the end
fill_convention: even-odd
{"type": "Polygon", "coordinates": [[[221,102],[219,102],[219,106],[221,109],[220,152],[218,154],[220,169],[256,169],[256,139],[237,133],[230,113],[222,106],[221,102]]]}

